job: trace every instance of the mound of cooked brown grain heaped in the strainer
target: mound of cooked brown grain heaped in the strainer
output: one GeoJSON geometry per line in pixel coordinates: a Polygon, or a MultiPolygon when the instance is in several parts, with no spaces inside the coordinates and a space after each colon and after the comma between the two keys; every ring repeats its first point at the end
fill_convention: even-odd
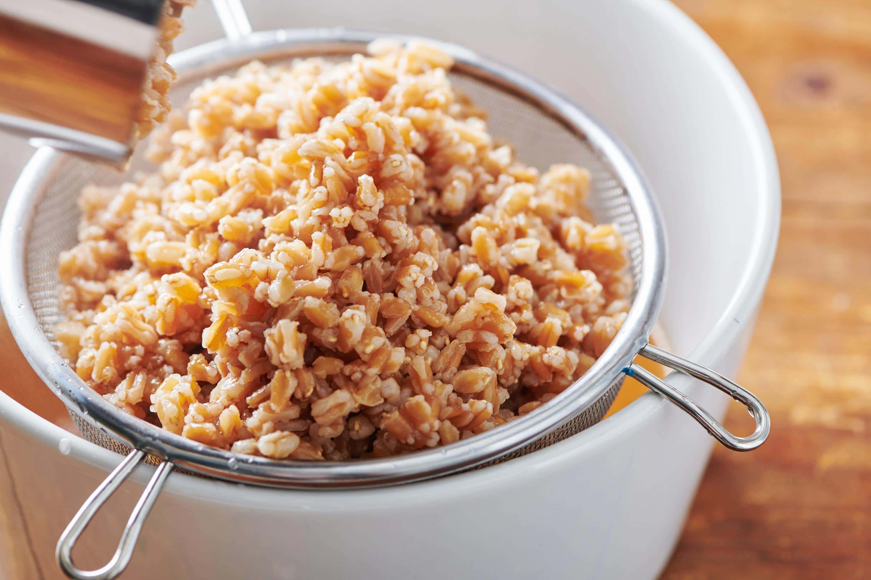
{"type": "Polygon", "coordinates": [[[452,443],[571,385],[625,319],[588,173],[539,175],[451,88],[379,41],[194,90],[159,172],[82,193],[55,331],[136,417],[265,457],[452,443]]]}

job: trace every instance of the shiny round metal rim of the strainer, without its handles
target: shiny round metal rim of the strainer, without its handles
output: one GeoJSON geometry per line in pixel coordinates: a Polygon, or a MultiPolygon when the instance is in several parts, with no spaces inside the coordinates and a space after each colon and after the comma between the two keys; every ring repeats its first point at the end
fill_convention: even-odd
{"type": "MultiPolygon", "coordinates": [[[[381,37],[402,42],[413,38],[345,29],[272,30],[179,52],[172,57],[172,65],[183,81],[185,77],[208,76],[211,70],[226,69],[228,65],[253,58],[352,54],[365,50],[366,44],[381,37]]],[[[662,304],[666,243],[658,204],[624,145],[577,104],[544,83],[471,50],[431,42],[455,58],[455,72],[494,84],[533,103],[590,143],[611,164],[638,217],[642,269],[631,309],[602,357],[569,389],[534,412],[476,437],[434,450],[365,461],[276,461],[243,456],[196,443],[129,416],[91,390],[64,362],[40,330],[30,303],[25,270],[27,229],[22,224],[30,224],[34,217],[44,185],[51,181],[50,170],[61,155],[47,148],[37,150],[30,159],[10,194],[0,222],[0,263],[6,264],[9,270],[0,277],[0,303],[13,336],[39,377],[56,390],[72,410],[84,414],[99,429],[188,470],[246,483],[321,489],[408,483],[465,470],[542,437],[595,403],[623,376],[632,358],[645,348],[662,304]],[[34,192],[38,195],[34,196],[34,192]]]]}

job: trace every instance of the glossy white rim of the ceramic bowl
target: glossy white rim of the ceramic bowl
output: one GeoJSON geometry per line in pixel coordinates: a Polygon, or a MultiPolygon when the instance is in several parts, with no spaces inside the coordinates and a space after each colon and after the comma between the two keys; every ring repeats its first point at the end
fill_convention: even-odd
{"type": "MultiPolygon", "coordinates": [[[[719,320],[706,334],[706,337],[689,354],[692,360],[711,365],[717,362],[728,345],[734,342],[739,332],[752,320],[773,263],[780,224],[780,177],[773,143],[759,106],[753,99],[746,83],[734,68],[733,63],[719,49],[719,46],[699,28],[698,24],[665,0],[647,2],[628,0],[628,3],[633,4],[634,9],[647,13],[663,28],[672,30],[676,36],[681,37],[684,43],[691,45],[700,57],[704,57],[710,63],[711,69],[733,104],[748,143],[753,147],[753,163],[759,176],[757,190],[760,204],[756,217],[759,226],[753,232],[752,250],[732,301],[726,306],[719,320]]],[[[684,389],[688,394],[692,394],[692,379],[689,377],[675,377],[673,383],[679,389],[684,389]]],[[[348,497],[352,497],[354,501],[361,498],[361,494],[365,494],[369,500],[379,500],[379,503],[381,501],[395,503],[400,498],[399,496],[405,496],[405,501],[408,502],[427,502],[433,495],[429,492],[436,492],[436,490],[440,490],[440,495],[447,493],[448,490],[462,493],[463,490],[468,490],[469,486],[494,485],[500,481],[504,483],[507,479],[504,477],[506,470],[513,471],[511,479],[515,481],[527,477],[540,477],[541,470],[539,468],[558,469],[560,463],[563,463],[560,461],[560,457],[568,455],[566,451],[571,450],[574,455],[583,453],[584,450],[591,449],[597,444],[604,444],[612,437],[618,437],[621,432],[633,430],[642,423],[652,420],[652,417],[661,412],[664,406],[665,400],[648,393],[603,422],[547,449],[538,450],[536,453],[518,457],[508,463],[495,465],[486,470],[469,471],[449,477],[408,483],[398,487],[275,490],[256,486],[240,486],[239,483],[205,480],[175,473],[169,478],[165,493],[197,497],[200,501],[216,503],[224,503],[221,497],[233,497],[233,502],[238,503],[241,495],[245,497],[246,502],[252,505],[261,502],[274,505],[277,497],[275,494],[278,493],[290,494],[287,497],[302,497],[302,494],[305,494],[307,502],[315,502],[320,509],[330,511],[346,510],[350,507],[349,503],[336,501],[339,497],[345,497],[345,494],[353,494],[348,497]],[[537,468],[535,475],[533,470],[529,469],[532,466],[537,468]],[[225,491],[228,493],[223,493],[225,491]]],[[[44,443],[55,449],[62,439],[71,440],[70,456],[100,470],[109,471],[116,467],[122,459],[117,454],[71,435],[68,431],[39,417],[2,391],[0,391],[0,415],[7,423],[24,431],[39,443],[44,443]]],[[[153,469],[151,466],[142,465],[138,467],[132,478],[139,483],[145,483],[151,477],[153,469]]],[[[374,503],[368,503],[368,505],[371,506],[374,503]]]]}

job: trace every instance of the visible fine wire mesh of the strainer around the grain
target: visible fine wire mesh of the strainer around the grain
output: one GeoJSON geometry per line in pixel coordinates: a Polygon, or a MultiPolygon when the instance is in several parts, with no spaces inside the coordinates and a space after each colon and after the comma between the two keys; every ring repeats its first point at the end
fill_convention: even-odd
{"type": "MultiPolygon", "coordinates": [[[[201,80],[201,77],[188,77],[178,83],[173,90],[176,106],[183,104],[184,97],[201,80]]],[[[591,193],[587,200],[588,207],[599,223],[618,224],[627,243],[631,273],[637,283],[641,273],[642,253],[638,221],[625,190],[609,163],[583,137],[578,137],[562,123],[530,103],[462,74],[452,73],[451,80],[475,103],[489,111],[490,133],[496,139],[512,143],[519,159],[538,170],[546,170],[552,163],[575,163],[590,170],[591,193]]],[[[141,158],[142,149],[139,148],[138,157],[133,159],[132,167],[135,169],[147,168],[147,163],[141,158]]],[[[42,199],[30,223],[26,268],[28,293],[37,321],[46,337],[57,348],[57,342],[52,335],[52,328],[61,319],[57,310],[57,256],[61,250],[69,249],[76,243],[78,193],[88,183],[116,185],[122,183],[125,176],[74,157],[58,157],[50,171],[50,175],[44,178],[42,199]]],[[[129,175],[130,172],[127,176],[129,175]]],[[[571,421],[519,450],[484,463],[484,466],[540,450],[598,423],[617,395],[622,377],[621,373],[603,397],[571,421]]],[[[91,442],[118,453],[130,452],[131,448],[125,443],[80,416],[77,410],[70,410],[70,413],[83,436],[91,442]]],[[[157,457],[150,459],[152,463],[159,463],[157,457]]]]}

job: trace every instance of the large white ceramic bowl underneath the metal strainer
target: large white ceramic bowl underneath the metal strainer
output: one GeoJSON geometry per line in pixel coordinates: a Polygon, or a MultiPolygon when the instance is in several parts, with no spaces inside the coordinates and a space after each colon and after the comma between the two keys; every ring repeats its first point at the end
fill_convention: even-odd
{"type": "MultiPolygon", "coordinates": [[[[345,24],[465,44],[575,98],[628,145],[658,194],[671,264],[661,320],[675,352],[738,369],[776,245],[777,166],[746,85],[671,4],[442,0],[425,22],[404,0],[321,2],[292,22],[284,3],[247,5],[255,30],[345,24]]],[[[218,36],[206,6],[188,22],[186,42],[218,36]]],[[[723,416],[725,395],[669,380],[723,416]]],[[[59,577],[57,537],[120,457],[3,393],[0,417],[33,552],[44,577],[59,577]]],[[[400,487],[267,490],[173,473],[123,577],[652,578],[712,441],[648,394],[530,456],[400,487]]],[[[79,565],[108,559],[151,473],[138,468],[84,533],[79,565]]]]}

